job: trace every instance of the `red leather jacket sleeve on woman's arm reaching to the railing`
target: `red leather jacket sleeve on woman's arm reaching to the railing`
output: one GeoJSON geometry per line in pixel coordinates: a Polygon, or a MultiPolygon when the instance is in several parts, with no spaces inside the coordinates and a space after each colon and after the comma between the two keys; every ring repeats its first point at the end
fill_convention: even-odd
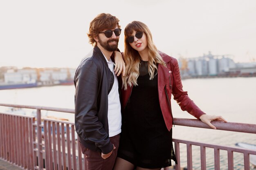
{"type": "Polygon", "coordinates": [[[178,62],[176,59],[173,60],[173,99],[177,101],[183,111],[186,110],[188,113],[199,119],[199,117],[205,113],[189,98],[188,93],[183,91],[178,62]]]}

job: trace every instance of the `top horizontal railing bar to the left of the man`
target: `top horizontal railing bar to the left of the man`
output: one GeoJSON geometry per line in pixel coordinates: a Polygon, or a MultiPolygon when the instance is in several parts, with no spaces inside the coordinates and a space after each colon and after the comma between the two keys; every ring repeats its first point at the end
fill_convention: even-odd
{"type": "Polygon", "coordinates": [[[39,109],[39,110],[49,110],[56,112],[65,112],[65,113],[75,113],[74,109],[70,108],[54,108],[54,107],[45,107],[45,106],[27,106],[27,105],[18,105],[18,104],[2,104],[0,106],[14,107],[14,108],[31,108],[31,109],[39,109]]]}

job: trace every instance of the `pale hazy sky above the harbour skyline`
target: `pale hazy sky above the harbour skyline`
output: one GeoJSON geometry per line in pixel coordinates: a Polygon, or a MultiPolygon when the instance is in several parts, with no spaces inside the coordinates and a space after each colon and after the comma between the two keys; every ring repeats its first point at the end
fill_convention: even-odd
{"type": "Polygon", "coordinates": [[[86,33],[99,13],[119,18],[123,30],[144,22],[157,49],[175,58],[211,51],[256,60],[255,0],[1,0],[0,67],[76,68],[93,48],[86,33]]]}

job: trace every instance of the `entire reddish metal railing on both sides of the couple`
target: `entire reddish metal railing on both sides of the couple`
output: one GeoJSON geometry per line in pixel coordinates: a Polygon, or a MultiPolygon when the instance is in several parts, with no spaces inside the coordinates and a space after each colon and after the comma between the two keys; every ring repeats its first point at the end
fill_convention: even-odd
{"type": "MultiPolygon", "coordinates": [[[[41,121],[41,110],[73,113],[73,109],[52,108],[43,106],[23,106],[0,104],[14,108],[36,109],[36,117],[0,113],[0,158],[27,170],[83,170],[86,168],[85,158],[76,141],[74,123],[53,119],[41,121]]],[[[209,128],[195,119],[175,118],[175,126],[191,126],[209,128]]],[[[256,124],[223,123],[213,121],[218,130],[245,132],[256,134],[256,124]]],[[[175,154],[180,167],[180,144],[186,144],[187,168],[192,170],[192,146],[200,147],[201,170],[206,170],[206,149],[214,150],[214,168],[220,170],[220,150],[228,153],[228,169],[234,170],[233,154],[244,155],[244,169],[249,170],[249,155],[256,155],[255,150],[241,149],[229,146],[206,144],[196,141],[173,139],[175,154]]],[[[168,170],[164,168],[164,170],[168,170]]]]}

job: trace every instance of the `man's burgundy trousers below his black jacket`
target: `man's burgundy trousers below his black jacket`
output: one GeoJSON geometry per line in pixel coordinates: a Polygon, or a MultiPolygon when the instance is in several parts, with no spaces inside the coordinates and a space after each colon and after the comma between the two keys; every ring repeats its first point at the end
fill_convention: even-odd
{"type": "Polygon", "coordinates": [[[103,159],[101,152],[93,151],[85,148],[80,142],[81,150],[85,156],[85,170],[112,170],[117,157],[117,150],[119,147],[119,134],[110,137],[110,141],[115,145],[116,149],[113,150],[110,157],[103,159]]]}

